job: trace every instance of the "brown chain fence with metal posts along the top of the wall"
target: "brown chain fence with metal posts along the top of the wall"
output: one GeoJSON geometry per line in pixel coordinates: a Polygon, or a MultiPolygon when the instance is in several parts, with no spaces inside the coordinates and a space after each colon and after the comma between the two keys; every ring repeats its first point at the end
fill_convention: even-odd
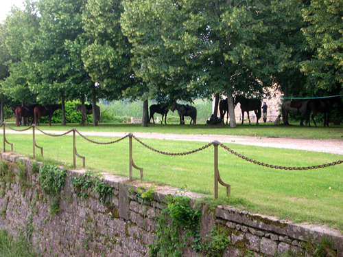
{"type": "MultiPolygon", "coordinates": [[[[18,130],[18,129],[13,129],[12,127],[8,126],[8,124],[5,124],[5,122],[3,122],[1,124],[1,126],[3,126],[3,152],[5,153],[6,152],[6,149],[5,149],[5,144],[10,144],[11,146],[11,151],[13,152],[13,144],[11,144],[10,142],[8,142],[8,140],[6,139],[6,136],[5,136],[5,127],[8,127],[9,129],[11,129],[12,131],[18,131],[18,132],[22,132],[22,131],[27,131],[29,129],[33,129],[33,159],[36,159],[36,156],[35,156],[35,148],[40,148],[41,150],[41,155],[43,157],[43,147],[40,147],[40,146],[37,146],[36,144],[36,139],[35,139],[35,129],[38,129],[36,125],[32,125],[32,126],[29,126],[29,128],[27,129],[23,129],[23,130],[18,130]]],[[[1,127],[0,126],[0,127],[1,127]]],[[[244,155],[241,155],[237,152],[235,152],[234,150],[231,150],[230,148],[228,148],[227,146],[225,146],[224,144],[218,142],[217,140],[209,143],[209,144],[206,144],[198,149],[195,149],[195,150],[191,150],[191,151],[188,151],[188,152],[183,152],[183,153],[167,153],[167,152],[164,152],[164,151],[161,151],[161,150],[157,150],[155,148],[152,148],[151,146],[148,146],[147,144],[143,143],[140,139],[138,139],[137,137],[135,137],[132,133],[129,133],[128,135],[124,136],[124,137],[121,137],[120,139],[117,139],[115,141],[111,141],[111,142],[96,142],[92,139],[89,139],[87,137],[85,137],[84,135],[82,135],[77,129],[71,129],[70,131],[67,131],[66,133],[62,133],[62,134],[59,134],[59,135],[56,135],[56,134],[50,134],[50,133],[45,133],[44,131],[38,129],[38,131],[40,131],[41,133],[43,133],[44,135],[49,135],[51,137],[60,137],[60,136],[63,136],[63,135],[67,135],[71,132],[73,132],[73,167],[76,168],[76,156],[82,158],[83,160],[83,168],[85,168],[85,162],[86,162],[86,157],[82,157],[78,154],[78,151],[76,150],[76,139],[75,139],[75,134],[78,133],[78,135],[80,135],[83,139],[86,139],[88,142],[91,142],[93,144],[115,144],[117,142],[120,142],[121,140],[123,139],[126,139],[126,137],[129,137],[129,177],[130,177],[130,180],[132,180],[132,168],[136,168],[137,170],[140,170],[140,173],[141,173],[141,181],[143,181],[143,168],[139,168],[138,166],[136,166],[136,164],[134,164],[134,161],[133,161],[133,155],[132,155],[132,137],[137,141],[139,142],[139,144],[142,144],[143,146],[145,146],[146,148],[148,148],[149,150],[152,150],[156,153],[160,153],[160,154],[163,154],[163,155],[171,155],[171,156],[182,156],[182,155],[190,155],[192,153],[197,153],[199,152],[200,150],[204,150],[206,148],[209,148],[209,146],[213,146],[214,147],[214,175],[215,175],[215,181],[214,181],[214,191],[215,191],[215,199],[218,198],[218,185],[219,183],[226,187],[226,195],[227,196],[230,196],[230,185],[227,184],[227,183],[224,183],[224,181],[222,181],[222,179],[220,178],[220,172],[219,172],[219,168],[218,168],[218,146],[221,146],[222,148],[224,148],[225,150],[227,150],[229,153],[232,153],[233,155],[236,155],[237,157],[240,157],[241,159],[244,159],[246,161],[249,161],[251,162],[252,164],[257,164],[257,165],[260,165],[260,166],[264,166],[264,167],[267,167],[267,168],[276,168],[276,169],[283,169],[283,170],[309,170],[309,169],[316,169],[316,168],[326,168],[326,167],[329,167],[329,166],[335,166],[335,165],[338,165],[338,164],[342,164],[343,163],[343,160],[338,160],[338,161],[333,161],[331,163],[328,163],[328,164],[322,164],[322,165],[316,165],[316,166],[305,166],[305,167],[287,167],[287,166],[276,166],[276,165],[271,165],[271,164],[265,164],[263,162],[260,162],[260,161],[256,161],[254,159],[250,159],[248,157],[245,157],[244,155]]]]}

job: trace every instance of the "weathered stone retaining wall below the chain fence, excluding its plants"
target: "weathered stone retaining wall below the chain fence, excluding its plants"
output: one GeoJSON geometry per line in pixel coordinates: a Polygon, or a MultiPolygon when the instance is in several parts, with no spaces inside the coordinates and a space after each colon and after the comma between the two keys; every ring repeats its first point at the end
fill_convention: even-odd
{"type": "MultiPolygon", "coordinates": [[[[40,189],[38,174],[32,174],[32,161],[7,153],[2,153],[1,158],[10,161],[13,167],[14,162],[25,160],[27,181],[23,184],[23,178],[16,176],[15,182],[1,183],[0,228],[25,236],[43,256],[148,256],[147,245],[154,241],[157,217],[165,207],[165,196],[177,191],[156,186],[154,200],[145,203],[134,197],[135,188],[141,186],[139,183],[104,175],[114,196],[110,203],[103,205],[95,193],[90,192],[85,200],[75,195],[71,177],[80,176],[84,171],[69,170],[61,210],[51,216],[52,199],[40,189]]],[[[18,174],[18,170],[15,172],[18,174]]],[[[194,199],[201,197],[186,194],[194,199]]],[[[226,229],[231,242],[224,256],[281,256],[288,249],[300,256],[305,254],[304,243],[320,242],[326,237],[331,241],[333,256],[343,257],[342,234],[327,227],[278,221],[226,206],[212,210],[203,205],[200,235],[205,237],[215,225],[226,229]]],[[[183,256],[198,254],[189,248],[183,256]]]]}

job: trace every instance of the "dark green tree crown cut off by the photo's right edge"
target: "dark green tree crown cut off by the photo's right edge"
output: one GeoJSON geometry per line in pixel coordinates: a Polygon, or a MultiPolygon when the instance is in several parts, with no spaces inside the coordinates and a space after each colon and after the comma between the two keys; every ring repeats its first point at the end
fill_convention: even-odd
{"type": "Polygon", "coordinates": [[[343,96],[343,1],[313,0],[303,16],[309,23],[303,32],[314,50],[313,58],[302,63],[311,82],[308,89],[320,96],[343,96]]]}

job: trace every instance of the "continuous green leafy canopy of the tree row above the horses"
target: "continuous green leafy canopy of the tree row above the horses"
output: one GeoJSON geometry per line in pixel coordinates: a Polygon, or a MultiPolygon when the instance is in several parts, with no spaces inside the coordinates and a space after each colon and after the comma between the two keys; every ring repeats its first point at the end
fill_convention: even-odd
{"type": "Polygon", "coordinates": [[[0,26],[1,96],[343,95],[342,1],[27,0],[0,26]]]}

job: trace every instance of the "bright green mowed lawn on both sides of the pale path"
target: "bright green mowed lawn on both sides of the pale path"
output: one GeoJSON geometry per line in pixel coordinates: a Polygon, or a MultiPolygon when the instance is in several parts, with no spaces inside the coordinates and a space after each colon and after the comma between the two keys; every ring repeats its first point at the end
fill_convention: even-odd
{"type": "MultiPolygon", "coordinates": [[[[250,131],[255,135],[262,133],[262,129],[275,131],[274,126],[239,126],[229,129],[226,126],[220,131],[250,131]],[[257,128],[258,127],[258,128],[257,128]]],[[[56,131],[69,131],[75,126],[78,131],[125,131],[125,132],[155,132],[158,126],[141,128],[140,125],[102,125],[79,126],[51,126],[49,129],[56,131]],[[104,129],[106,128],[106,129],[104,129]]],[[[198,126],[198,125],[197,125],[198,126]]],[[[187,126],[159,126],[166,133],[184,133],[182,131],[196,130],[187,126]],[[169,129],[166,129],[169,128],[169,129]]],[[[196,126],[194,126],[196,127],[196,126]]],[[[305,131],[298,126],[290,126],[294,131],[305,131]]],[[[47,131],[47,126],[40,126],[47,131]]],[[[199,128],[200,129],[200,128],[199,128]]],[[[283,129],[280,127],[280,129],[283,129]]],[[[287,128],[285,128],[287,129],[287,128]]],[[[312,130],[312,128],[306,128],[312,130]]],[[[319,130],[321,128],[314,128],[319,130]]],[[[340,129],[329,128],[342,132],[340,129]]],[[[209,131],[203,128],[200,131],[209,131]]],[[[287,129],[287,131],[292,131],[287,129]]],[[[157,132],[157,131],[156,131],[157,132]]],[[[159,131],[161,132],[161,131],[159,131]]],[[[338,138],[340,132],[335,132],[338,138]]],[[[272,132],[270,132],[272,133],[272,132]]],[[[298,132],[300,133],[300,132],[298,132]]],[[[304,134],[308,135],[309,133],[304,134]]],[[[197,133],[196,133],[197,134],[197,133]]],[[[274,136],[272,134],[268,134],[274,136]]],[[[319,134],[318,134],[319,135],[319,134]]],[[[16,153],[23,153],[32,157],[32,135],[6,134],[9,142],[14,144],[16,153]]],[[[117,137],[88,137],[96,142],[111,142],[117,137]]],[[[2,137],[1,137],[2,141],[2,137]]],[[[169,153],[185,153],[198,149],[206,143],[202,142],[177,142],[157,139],[141,139],[142,142],[161,151],[169,153]]],[[[64,162],[67,168],[73,164],[73,137],[51,137],[36,135],[36,144],[43,146],[45,159],[56,159],[64,162]]],[[[329,153],[313,153],[301,150],[287,150],[263,148],[258,146],[242,146],[225,144],[237,153],[251,159],[267,164],[303,167],[326,164],[343,159],[342,155],[329,153]]],[[[10,146],[6,146],[7,149],[10,146]]],[[[129,175],[129,140],[123,139],[116,144],[93,144],[82,137],[76,137],[78,153],[86,157],[86,168],[107,171],[115,175],[128,177],[129,175]]],[[[36,148],[36,158],[40,150],[36,148]]],[[[133,139],[134,163],[144,169],[145,181],[153,181],[176,188],[187,188],[192,192],[200,192],[213,201],[214,168],[213,146],[198,153],[182,156],[167,156],[155,153],[145,148],[133,139]]],[[[77,165],[82,166],[78,158],[77,165]]],[[[226,198],[226,189],[220,186],[220,199],[216,203],[226,203],[242,210],[259,214],[277,216],[279,219],[288,219],[297,223],[325,224],[343,230],[343,164],[314,170],[279,170],[251,164],[241,159],[222,147],[219,147],[220,176],[225,183],[231,185],[231,197],[226,198]]],[[[134,178],[139,179],[139,171],[134,170],[134,178]]]]}

